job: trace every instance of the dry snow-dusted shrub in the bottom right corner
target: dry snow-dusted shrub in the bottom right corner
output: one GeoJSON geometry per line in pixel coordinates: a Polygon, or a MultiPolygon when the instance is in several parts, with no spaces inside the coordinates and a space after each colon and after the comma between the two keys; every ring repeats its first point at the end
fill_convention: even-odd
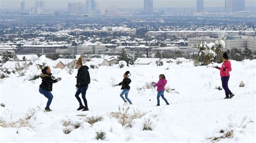
{"type": "Polygon", "coordinates": [[[228,127],[225,127],[225,130],[220,130],[218,132],[218,135],[216,135],[217,137],[211,137],[211,138],[207,138],[208,140],[211,140],[212,142],[217,142],[221,139],[226,139],[226,138],[233,138],[235,133],[241,133],[244,128],[246,128],[246,126],[250,123],[253,123],[254,121],[252,120],[248,120],[246,119],[246,117],[244,117],[244,119],[242,119],[240,125],[235,124],[232,122],[232,119],[230,117],[228,117],[230,120],[230,123],[228,124],[228,127]]]}

